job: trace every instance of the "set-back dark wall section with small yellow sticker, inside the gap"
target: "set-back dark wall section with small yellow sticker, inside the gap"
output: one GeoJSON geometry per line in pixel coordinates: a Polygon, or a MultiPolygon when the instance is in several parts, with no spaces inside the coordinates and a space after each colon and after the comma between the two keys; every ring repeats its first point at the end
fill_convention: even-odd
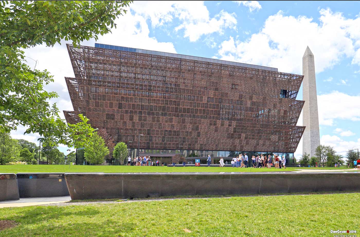
{"type": "Polygon", "coordinates": [[[69,196],[64,173],[17,173],[20,197],[69,196]]]}

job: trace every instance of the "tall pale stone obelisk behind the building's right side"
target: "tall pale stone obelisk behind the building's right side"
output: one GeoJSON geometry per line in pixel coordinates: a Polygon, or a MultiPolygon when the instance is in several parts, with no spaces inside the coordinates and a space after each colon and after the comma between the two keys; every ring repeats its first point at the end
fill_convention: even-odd
{"type": "Polygon", "coordinates": [[[316,96],[315,62],[309,46],[302,57],[302,99],[305,104],[302,109],[302,123],[306,126],[302,135],[302,153],[315,155],[315,149],[320,145],[318,98],[316,96]]]}

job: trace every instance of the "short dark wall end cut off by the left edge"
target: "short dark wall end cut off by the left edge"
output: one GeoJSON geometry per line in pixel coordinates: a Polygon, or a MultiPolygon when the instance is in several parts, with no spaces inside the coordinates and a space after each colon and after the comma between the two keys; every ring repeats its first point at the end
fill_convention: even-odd
{"type": "Polygon", "coordinates": [[[18,180],[15,174],[0,174],[0,201],[18,200],[18,180]]]}

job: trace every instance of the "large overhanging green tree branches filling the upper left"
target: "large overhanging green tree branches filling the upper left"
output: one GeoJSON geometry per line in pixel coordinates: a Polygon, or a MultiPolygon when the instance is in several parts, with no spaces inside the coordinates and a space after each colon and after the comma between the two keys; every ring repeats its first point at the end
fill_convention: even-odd
{"type": "Polygon", "coordinates": [[[28,67],[23,49],[54,46],[61,40],[72,40],[74,46],[91,38],[97,40],[99,34],[116,27],[114,20],[126,13],[129,3],[0,1],[0,130],[9,132],[24,125],[25,133],[39,133],[48,145],[72,146],[74,140],[68,133],[79,134],[78,126],[67,128],[56,104],[48,102],[58,97],[57,93],[44,89],[54,81],[53,76],[28,67]]]}

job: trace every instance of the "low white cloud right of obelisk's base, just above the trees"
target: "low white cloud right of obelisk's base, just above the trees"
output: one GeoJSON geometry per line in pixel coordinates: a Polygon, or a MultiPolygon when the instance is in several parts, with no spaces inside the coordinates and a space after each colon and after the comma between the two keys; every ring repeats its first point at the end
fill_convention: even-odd
{"type": "Polygon", "coordinates": [[[360,138],[356,141],[345,141],[336,135],[322,135],[320,138],[320,144],[334,147],[334,150],[338,154],[344,156],[348,149],[354,149],[360,146],[360,138]]]}

